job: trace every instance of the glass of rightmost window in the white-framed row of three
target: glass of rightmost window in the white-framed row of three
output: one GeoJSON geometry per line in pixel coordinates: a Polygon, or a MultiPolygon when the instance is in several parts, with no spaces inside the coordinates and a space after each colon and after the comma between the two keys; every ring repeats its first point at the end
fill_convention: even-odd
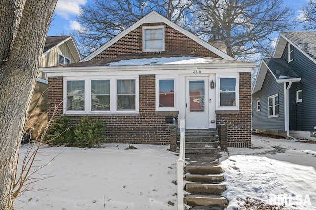
{"type": "Polygon", "coordinates": [[[117,80],[117,109],[135,110],[135,80],[117,80]]]}

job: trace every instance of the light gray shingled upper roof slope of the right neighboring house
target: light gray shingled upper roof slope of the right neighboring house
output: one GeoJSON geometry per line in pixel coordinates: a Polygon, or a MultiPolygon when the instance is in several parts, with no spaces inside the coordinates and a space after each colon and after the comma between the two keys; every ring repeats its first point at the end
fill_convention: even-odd
{"type": "Polygon", "coordinates": [[[282,32],[282,34],[316,60],[316,32],[282,32]]]}

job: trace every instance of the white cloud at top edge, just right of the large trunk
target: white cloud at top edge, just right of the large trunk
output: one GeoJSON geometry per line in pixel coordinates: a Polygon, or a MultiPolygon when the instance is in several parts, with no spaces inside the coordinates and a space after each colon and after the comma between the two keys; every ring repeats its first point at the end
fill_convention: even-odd
{"type": "Polygon", "coordinates": [[[86,2],[86,0],[58,0],[55,12],[63,18],[69,19],[70,15],[79,15],[79,6],[86,4],[86,2]]]}

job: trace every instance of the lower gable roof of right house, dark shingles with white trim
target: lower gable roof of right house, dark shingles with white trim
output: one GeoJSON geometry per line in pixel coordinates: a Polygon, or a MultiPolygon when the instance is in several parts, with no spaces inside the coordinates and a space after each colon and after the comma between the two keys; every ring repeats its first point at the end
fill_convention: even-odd
{"type": "Polygon", "coordinates": [[[292,70],[292,68],[281,58],[262,59],[259,70],[252,89],[252,94],[261,90],[266,78],[267,71],[270,71],[277,83],[299,82],[301,78],[292,70]]]}

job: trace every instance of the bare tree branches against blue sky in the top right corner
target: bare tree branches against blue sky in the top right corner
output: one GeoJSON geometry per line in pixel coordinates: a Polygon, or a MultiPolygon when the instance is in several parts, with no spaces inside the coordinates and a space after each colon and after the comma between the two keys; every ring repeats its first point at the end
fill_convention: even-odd
{"type": "Polygon", "coordinates": [[[315,30],[316,0],[308,0],[308,3],[301,8],[301,15],[296,20],[302,23],[303,30],[315,30]]]}

